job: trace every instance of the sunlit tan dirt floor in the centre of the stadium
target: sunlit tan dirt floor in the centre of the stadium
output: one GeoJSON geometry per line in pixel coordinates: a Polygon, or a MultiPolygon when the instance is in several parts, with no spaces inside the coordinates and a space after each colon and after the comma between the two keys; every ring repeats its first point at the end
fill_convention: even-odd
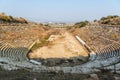
{"type": "Polygon", "coordinates": [[[74,58],[87,60],[88,52],[69,32],[63,30],[59,35],[51,35],[50,44],[30,53],[31,58],[74,58]]]}

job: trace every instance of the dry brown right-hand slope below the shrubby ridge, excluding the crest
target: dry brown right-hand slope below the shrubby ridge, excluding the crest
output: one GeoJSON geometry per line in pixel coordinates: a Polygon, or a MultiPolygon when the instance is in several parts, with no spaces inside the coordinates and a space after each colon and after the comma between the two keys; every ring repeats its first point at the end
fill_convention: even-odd
{"type": "Polygon", "coordinates": [[[120,43],[120,27],[87,26],[71,29],[70,32],[81,37],[93,50],[113,42],[120,43]]]}

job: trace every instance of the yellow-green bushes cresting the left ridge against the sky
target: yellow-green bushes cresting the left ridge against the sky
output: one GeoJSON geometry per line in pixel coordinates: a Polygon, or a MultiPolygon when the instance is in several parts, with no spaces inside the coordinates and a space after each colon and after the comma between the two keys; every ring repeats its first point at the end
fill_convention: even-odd
{"type": "Polygon", "coordinates": [[[14,18],[13,16],[8,16],[4,12],[0,14],[0,22],[2,23],[28,23],[22,17],[14,18]]]}

